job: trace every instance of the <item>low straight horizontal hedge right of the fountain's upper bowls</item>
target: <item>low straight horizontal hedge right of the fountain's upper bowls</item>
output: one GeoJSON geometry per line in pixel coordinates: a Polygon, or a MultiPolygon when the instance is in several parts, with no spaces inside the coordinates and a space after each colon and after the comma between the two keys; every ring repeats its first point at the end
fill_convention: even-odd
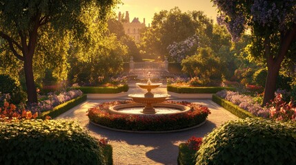
{"type": "Polygon", "coordinates": [[[216,94],[221,90],[235,91],[234,87],[176,87],[168,85],[166,87],[168,91],[175,92],[177,94],[216,94]]]}

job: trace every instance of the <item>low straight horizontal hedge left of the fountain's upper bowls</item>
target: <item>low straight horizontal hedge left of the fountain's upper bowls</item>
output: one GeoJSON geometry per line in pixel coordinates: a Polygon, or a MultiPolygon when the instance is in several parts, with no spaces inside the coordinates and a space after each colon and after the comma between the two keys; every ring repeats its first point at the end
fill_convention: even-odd
{"type": "Polygon", "coordinates": [[[128,91],[128,85],[121,87],[75,87],[74,89],[80,89],[83,94],[118,94],[128,91]]]}

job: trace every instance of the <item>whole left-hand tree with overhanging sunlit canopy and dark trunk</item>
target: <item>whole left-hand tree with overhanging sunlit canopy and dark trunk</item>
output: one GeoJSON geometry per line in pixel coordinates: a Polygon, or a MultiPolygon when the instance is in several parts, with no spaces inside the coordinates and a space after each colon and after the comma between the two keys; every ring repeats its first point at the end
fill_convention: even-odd
{"type": "Polygon", "coordinates": [[[39,43],[50,45],[39,38],[48,30],[55,36],[73,36],[88,40],[91,21],[103,21],[117,0],[65,1],[0,1],[0,36],[10,48],[10,54],[23,61],[28,103],[37,102],[33,59],[39,43]],[[46,28],[44,28],[46,27],[46,28]],[[53,31],[52,31],[53,30],[53,31]]]}

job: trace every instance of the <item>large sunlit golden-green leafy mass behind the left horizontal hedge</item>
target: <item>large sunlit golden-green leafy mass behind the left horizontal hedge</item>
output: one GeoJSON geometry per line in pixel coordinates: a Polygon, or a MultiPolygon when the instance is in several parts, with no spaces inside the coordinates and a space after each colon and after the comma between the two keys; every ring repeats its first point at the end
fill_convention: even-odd
{"type": "MultiPolygon", "coordinates": [[[[93,32],[93,35],[95,34],[93,32]]],[[[75,43],[70,49],[70,83],[99,85],[100,77],[110,78],[123,71],[123,57],[127,50],[125,45],[117,41],[116,36],[97,36],[96,39],[92,39],[91,44],[92,47],[82,47],[75,43]]]]}

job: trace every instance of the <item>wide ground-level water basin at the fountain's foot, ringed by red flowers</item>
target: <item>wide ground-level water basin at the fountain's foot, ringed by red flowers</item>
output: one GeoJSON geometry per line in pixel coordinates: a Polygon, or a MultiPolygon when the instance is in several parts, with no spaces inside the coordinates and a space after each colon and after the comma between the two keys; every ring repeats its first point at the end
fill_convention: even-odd
{"type": "Polygon", "coordinates": [[[108,109],[111,114],[125,114],[125,115],[166,115],[166,114],[179,114],[190,111],[190,107],[181,104],[153,104],[155,113],[143,113],[145,104],[118,104],[108,109]]]}

